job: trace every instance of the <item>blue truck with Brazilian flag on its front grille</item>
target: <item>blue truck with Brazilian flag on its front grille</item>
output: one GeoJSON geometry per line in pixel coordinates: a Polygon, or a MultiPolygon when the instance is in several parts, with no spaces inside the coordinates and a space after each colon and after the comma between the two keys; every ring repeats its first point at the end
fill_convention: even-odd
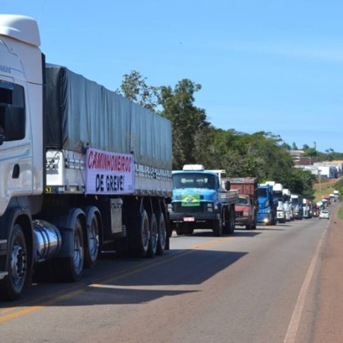
{"type": "Polygon", "coordinates": [[[230,190],[224,170],[185,165],[173,171],[173,195],[168,205],[171,228],[177,235],[191,235],[195,228],[210,228],[215,236],[235,230],[238,191],[230,190]]]}

